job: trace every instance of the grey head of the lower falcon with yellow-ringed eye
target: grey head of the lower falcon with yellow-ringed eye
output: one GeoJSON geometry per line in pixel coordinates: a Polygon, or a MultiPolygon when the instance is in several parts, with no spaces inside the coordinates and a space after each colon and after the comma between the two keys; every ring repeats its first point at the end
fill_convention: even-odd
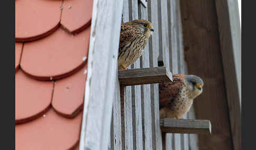
{"type": "Polygon", "coordinates": [[[203,80],[194,75],[185,75],[185,83],[189,89],[189,98],[195,99],[203,92],[203,80]]]}

